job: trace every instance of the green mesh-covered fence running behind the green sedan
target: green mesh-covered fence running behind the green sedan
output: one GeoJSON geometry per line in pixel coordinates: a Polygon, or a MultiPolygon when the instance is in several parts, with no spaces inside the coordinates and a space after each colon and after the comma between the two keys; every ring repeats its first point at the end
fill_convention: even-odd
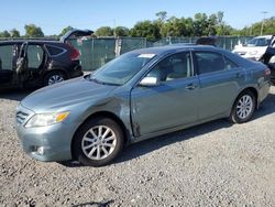
{"type": "MultiPolygon", "coordinates": [[[[250,39],[252,36],[218,36],[216,44],[219,47],[231,51],[238,43],[246,43],[250,39]]],[[[81,53],[82,69],[95,70],[129,51],[177,43],[196,43],[198,37],[166,37],[157,42],[150,42],[144,37],[95,37],[75,40],[72,43],[81,53]]]]}

